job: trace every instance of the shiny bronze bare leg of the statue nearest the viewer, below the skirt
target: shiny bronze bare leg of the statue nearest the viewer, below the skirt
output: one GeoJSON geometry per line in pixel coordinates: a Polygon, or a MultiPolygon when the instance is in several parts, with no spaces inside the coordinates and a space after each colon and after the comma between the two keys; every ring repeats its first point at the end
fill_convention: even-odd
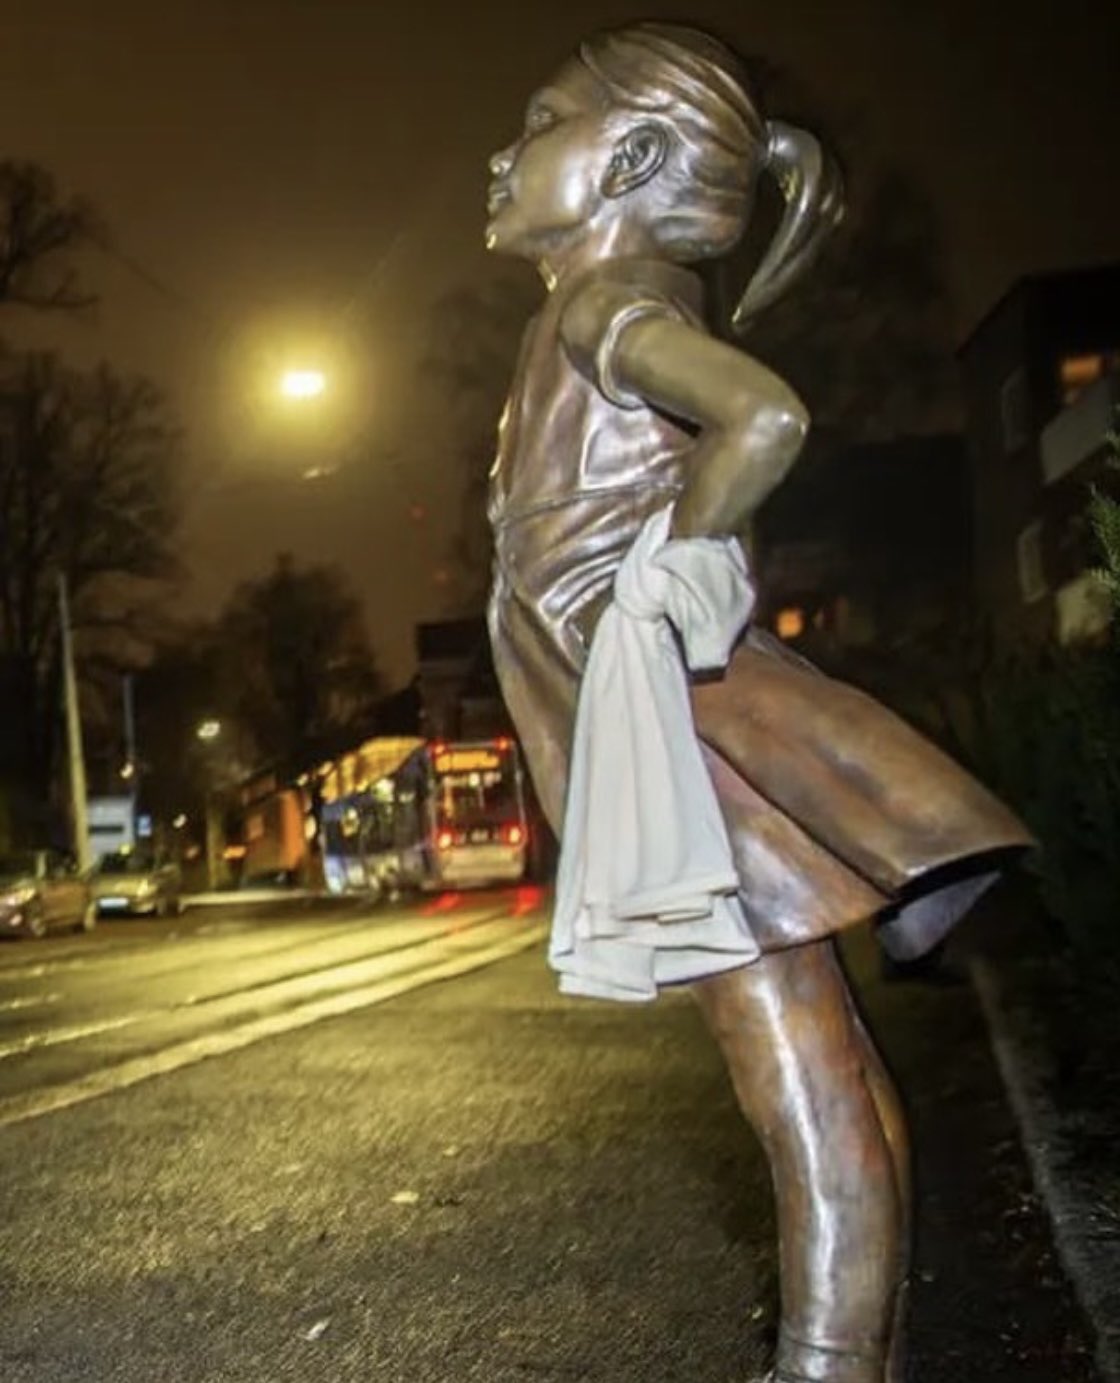
{"type": "Polygon", "coordinates": [[[781,1256],[774,1383],[885,1383],[903,1257],[897,1101],[831,942],[694,986],[770,1159],[781,1256]]]}

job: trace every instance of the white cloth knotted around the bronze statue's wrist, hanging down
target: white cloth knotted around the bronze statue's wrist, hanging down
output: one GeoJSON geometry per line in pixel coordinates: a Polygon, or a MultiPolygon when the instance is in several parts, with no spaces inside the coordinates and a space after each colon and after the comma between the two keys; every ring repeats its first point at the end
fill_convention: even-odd
{"type": "Polygon", "coordinates": [[[624,557],[579,687],[549,947],[568,994],[654,999],[759,954],[686,671],[726,667],[754,588],[738,542],[669,539],[671,516],[624,557]]]}

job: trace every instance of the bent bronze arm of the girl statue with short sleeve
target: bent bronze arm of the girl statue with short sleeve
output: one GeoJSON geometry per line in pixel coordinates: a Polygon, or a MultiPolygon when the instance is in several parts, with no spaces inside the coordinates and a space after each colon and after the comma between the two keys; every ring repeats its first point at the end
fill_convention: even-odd
{"type": "Polygon", "coordinates": [[[639,308],[632,288],[588,285],[561,319],[568,354],[590,378],[608,368],[615,389],[700,429],[673,510],[673,537],[738,534],[796,461],[809,414],[784,380],[749,355],[682,314],[639,308]]]}

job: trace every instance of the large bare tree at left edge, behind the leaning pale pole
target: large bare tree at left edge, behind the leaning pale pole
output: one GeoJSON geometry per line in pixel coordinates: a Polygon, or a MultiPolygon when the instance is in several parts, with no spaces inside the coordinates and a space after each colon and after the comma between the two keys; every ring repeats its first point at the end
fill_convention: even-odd
{"type": "Polygon", "coordinates": [[[0,362],[0,662],[19,722],[8,776],[32,799],[48,798],[58,754],[58,577],[84,671],[119,665],[149,584],[174,570],[176,441],[144,379],[0,362]]]}

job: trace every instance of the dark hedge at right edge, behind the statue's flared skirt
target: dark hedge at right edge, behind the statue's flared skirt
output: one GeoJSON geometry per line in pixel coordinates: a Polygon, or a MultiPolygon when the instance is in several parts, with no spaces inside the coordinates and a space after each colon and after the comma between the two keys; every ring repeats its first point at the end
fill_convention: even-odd
{"type": "MultiPolygon", "coordinates": [[[[1120,440],[1110,438],[1120,466],[1120,440]]],[[[957,629],[892,650],[855,680],[965,763],[1038,839],[1037,896],[1092,985],[1120,979],[1120,503],[1095,490],[1098,579],[1113,617],[1098,643],[997,651],[957,629]]],[[[860,675],[861,674],[861,675],[860,675]]]]}

